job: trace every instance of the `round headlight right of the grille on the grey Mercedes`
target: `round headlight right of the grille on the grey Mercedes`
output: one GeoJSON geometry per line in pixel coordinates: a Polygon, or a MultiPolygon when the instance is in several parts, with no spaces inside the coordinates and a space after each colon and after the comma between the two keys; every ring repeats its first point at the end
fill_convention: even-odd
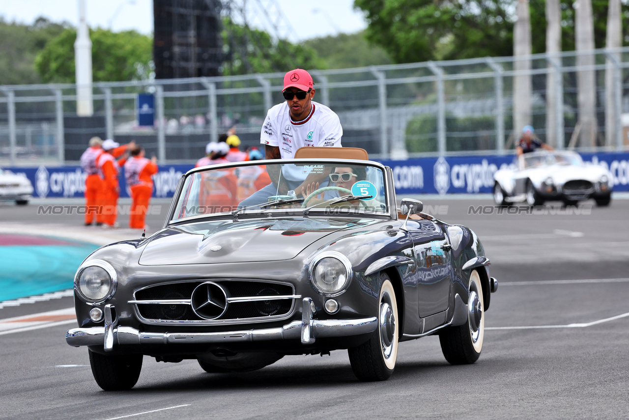
{"type": "Polygon", "coordinates": [[[352,264],[341,253],[323,253],[310,266],[310,281],[326,296],[340,295],[352,278],[352,264]]]}

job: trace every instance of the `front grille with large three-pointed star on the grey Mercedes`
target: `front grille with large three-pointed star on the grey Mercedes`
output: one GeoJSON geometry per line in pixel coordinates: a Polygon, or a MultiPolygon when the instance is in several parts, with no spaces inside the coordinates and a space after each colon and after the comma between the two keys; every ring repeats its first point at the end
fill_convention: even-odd
{"type": "Polygon", "coordinates": [[[235,324],[286,318],[301,296],[287,283],[220,279],[149,286],[133,297],[149,324],[235,324]]]}

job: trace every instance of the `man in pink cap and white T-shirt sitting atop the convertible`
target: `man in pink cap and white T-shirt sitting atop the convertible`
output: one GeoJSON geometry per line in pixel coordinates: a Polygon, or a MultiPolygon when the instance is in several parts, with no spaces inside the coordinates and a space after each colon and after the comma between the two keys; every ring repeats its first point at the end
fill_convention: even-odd
{"type": "MultiPolygon", "coordinates": [[[[260,143],[265,147],[266,159],[292,159],[299,147],[342,147],[338,115],[327,106],[314,101],[312,76],[304,69],[294,69],[284,75],[284,101],[273,106],[260,130],[260,143]]],[[[264,203],[269,196],[301,192],[312,183],[326,186],[329,171],[323,174],[304,174],[303,167],[294,164],[268,165],[272,181],[257,193],[243,200],[238,207],[264,203]]]]}

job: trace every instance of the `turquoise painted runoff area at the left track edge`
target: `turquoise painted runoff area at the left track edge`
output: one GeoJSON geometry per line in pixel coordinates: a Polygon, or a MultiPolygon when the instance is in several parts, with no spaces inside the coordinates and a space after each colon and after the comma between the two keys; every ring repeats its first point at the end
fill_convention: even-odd
{"type": "Polygon", "coordinates": [[[75,244],[0,246],[0,302],[72,288],[77,268],[98,248],[75,244]]]}

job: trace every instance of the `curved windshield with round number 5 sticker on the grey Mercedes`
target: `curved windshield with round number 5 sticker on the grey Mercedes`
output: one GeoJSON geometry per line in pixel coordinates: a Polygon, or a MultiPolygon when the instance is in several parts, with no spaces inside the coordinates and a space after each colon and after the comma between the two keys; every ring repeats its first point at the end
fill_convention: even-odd
{"type": "Polygon", "coordinates": [[[235,164],[191,173],[171,221],[231,213],[386,214],[384,174],[350,162],[235,164]]]}

